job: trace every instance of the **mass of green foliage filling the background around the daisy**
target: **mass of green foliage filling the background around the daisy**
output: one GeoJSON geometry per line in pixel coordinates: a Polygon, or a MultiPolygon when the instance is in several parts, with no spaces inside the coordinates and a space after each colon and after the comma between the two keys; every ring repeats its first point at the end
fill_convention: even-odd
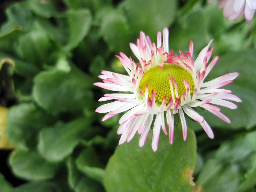
{"type": "Polygon", "coordinates": [[[201,192],[255,191],[255,19],[228,22],[216,3],[202,0],[25,0],[5,14],[0,61],[12,64],[18,99],[7,117],[6,136],[17,147],[8,162],[26,183],[13,187],[0,174],[1,191],[188,192],[192,175],[183,170],[192,174],[196,156],[193,176],[201,192]],[[129,42],[141,30],[154,42],[164,27],[175,54],[193,40],[196,58],[214,38],[220,59],[209,78],[239,72],[227,89],[243,102],[237,110],[221,109],[231,124],[204,113],[214,140],[191,121],[186,142],[178,126],[173,145],[161,133],[156,153],[150,141],[140,148],[136,136],[116,147],[120,116],[101,122],[95,109],[106,91],[92,83],[101,70],[125,73],[114,55],[122,51],[137,62],[129,42]]]}

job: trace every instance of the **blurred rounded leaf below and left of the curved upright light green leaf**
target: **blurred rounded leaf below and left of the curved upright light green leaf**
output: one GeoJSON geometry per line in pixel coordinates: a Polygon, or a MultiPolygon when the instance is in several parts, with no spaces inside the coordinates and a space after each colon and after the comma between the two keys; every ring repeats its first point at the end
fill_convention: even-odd
{"type": "Polygon", "coordinates": [[[48,61],[53,48],[49,36],[39,29],[20,36],[16,46],[19,56],[36,66],[42,66],[48,61]]]}

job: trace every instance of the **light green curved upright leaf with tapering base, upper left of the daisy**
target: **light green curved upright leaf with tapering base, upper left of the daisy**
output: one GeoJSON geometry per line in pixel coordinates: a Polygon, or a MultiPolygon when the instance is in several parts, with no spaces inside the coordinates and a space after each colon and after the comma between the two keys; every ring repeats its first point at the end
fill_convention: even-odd
{"type": "Polygon", "coordinates": [[[92,25],[92,16],[89,9],[70,10],[67,12],[70,35],[65,50],[78,46],[82,39],[88,34],[92,25]]]}

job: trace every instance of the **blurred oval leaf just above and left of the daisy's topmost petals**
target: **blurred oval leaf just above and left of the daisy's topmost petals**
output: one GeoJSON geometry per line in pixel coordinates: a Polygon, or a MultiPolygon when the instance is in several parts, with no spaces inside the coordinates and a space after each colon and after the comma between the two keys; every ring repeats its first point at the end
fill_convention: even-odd
{"type": "Polygon", "coordinates": [[[111,51],[128,52],[130,49],[130,30],[121,11],[112,10],[104,15],[100,30],[111,51]]]}

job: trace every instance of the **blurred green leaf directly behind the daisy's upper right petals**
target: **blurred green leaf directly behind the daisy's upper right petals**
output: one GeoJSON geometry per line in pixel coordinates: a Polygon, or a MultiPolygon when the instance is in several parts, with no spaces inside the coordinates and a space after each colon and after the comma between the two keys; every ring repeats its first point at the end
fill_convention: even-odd
{"type": "MultiPolygon", "coordinates": [[[[190,11],[181,17],[170,29],[170,49],[178,54],[179,50],[189,50],[190,40],[194,43],[194,56],[205,46],[206,19],[202,9],[190,11]]],[[[195,57],[196,58],[196,57],[195,57]]]]}

